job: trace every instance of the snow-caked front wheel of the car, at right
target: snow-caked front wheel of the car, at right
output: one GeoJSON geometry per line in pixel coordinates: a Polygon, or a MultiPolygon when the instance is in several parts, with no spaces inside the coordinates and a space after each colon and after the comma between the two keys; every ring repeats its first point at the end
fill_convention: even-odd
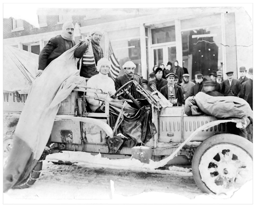
{"type": "Polygon", "coordinates": [[[234,134],[204,140],[192,159],[194,180],[203,193],[232,195],[252,180],[252,143],[234,134]]]}

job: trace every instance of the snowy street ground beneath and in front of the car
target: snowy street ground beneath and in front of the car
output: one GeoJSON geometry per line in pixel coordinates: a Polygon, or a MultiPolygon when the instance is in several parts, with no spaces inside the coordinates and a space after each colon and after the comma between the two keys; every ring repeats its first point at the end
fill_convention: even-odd
{"type": "MultiPolygon", "coordinates": [[[[62,154],[60,157],[58,157],[59,154],[53,155],[58,160],[67,154],[62,154]]],[[[72,153],[69,155],[72,157],[72,153]]],[[[73,158],[74,156],[76,155],[73,155],[73,158]]],[[[82,158],[80,158],[79,163],[74,165],[56,165],[45,160],[40,178],[33,186],[27,189],[10,189],[4,193],[4,200],[12,203],[18,199],[18,203],[20,203],[22,201],[20,199],[32,199],[34,202],[38,200],[38,202],[44,203],[52,199],[50,200],[52,203],[54,201],[59,202],[60,199],[73,201],[74,199],[90,199],[84,203],[91,203],[91,199],[100,199],[99,202],[108,203],[111,198],[120,198],[122,195],[121,203],[131,203],[132,197],[137,195],[137,203],[152,203],[149,202],[151,199],[154,203],[162,203],[163,201],[167,203],[197,203],[199,196],[205,196],[207,198],[206,203],[214,203],[216,202],[214,201],[215,198],[226,198],[225,196],[210,195],[210,197],[203,194],[195,184],[192,172],[184,172],[185,168],[175,166],[171,167],[171,170],[145,169],[138,168],[138,166],[137,168],[128,168],[127,163],[124,163],[129,163],[129,159],[115,160],[120,164],[120,166],[115,166],[110,164],[113,163],[113,160],[101,158],[100,154],[90,156],[88,155],[96,162],[105,161],[105,168],[100,165],[104,164],[103,162],[92,166],[90,163],[82,162],[82,158]],[[112,186],[114,192],[111,193],[112,181],[114,182],[112,186]],[[143,202],[141,198],[145,197],[145,192],[147,192],[148,198],[143,202]],[[160,197],[157,196],[154,199],[154,197],[149,196],[153,192],[161,192],[160,195],[163,198],[159,199],[160,197]],[[196,199],[193,199],[195,197],[196,199]],[[178,200],[175,200],[177,198],[178,200]]],[[[52,159],[54,156],[50,157],[52,159]]],[[[136,163],[137,161],[132,160],[132,162],[136,163]]],[[[250,200],[241,201],[248,203],[250,200]]],[[[226,201],[226,203],[229,202],[226,201]]]]}

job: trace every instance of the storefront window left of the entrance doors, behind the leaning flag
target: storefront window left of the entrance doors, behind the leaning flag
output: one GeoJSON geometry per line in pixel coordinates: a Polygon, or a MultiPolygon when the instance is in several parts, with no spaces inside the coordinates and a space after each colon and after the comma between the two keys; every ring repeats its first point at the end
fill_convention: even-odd
{"type": "Polygon", "coordinates": [[[122,67],[127,61],[134,62],[136,65],[134,72],[141,75],[139,28],[109,32],[108,36],[113,52],[121,68],[119,75],[124,74],[122,67]]]}

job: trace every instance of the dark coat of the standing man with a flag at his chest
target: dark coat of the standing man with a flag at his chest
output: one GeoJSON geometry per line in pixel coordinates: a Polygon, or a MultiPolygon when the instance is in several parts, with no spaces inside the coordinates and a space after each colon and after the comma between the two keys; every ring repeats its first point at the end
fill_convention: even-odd
{"type": "Polygon", "coordinates": [[[95,60],[96,65],[95,66],[85,66],[82,64],[80,66],[81,62],[83,61],[82,60],[83,54],[85,53],[86,49],[88,48],[88,46],[86,44],[82,44],[82,43],[84,43],[84,41],[81,42],[81,45],[75,50],[74,56],[76,58],[80,58],[80,60],[77,63],[77,68],[79,69],[81,67],[80,76],[85,77],[85,78],[90,78],[99,73],[99,72],[97,72],[96,66],[97,66],[98,61],[104,57],[104,54],[103,54],[102,48],[100,47],[100,52],[99,52],[95,42],[93,40],[91,40],[91,44],[92,44],[92,48],[93,48],[93,55],[94,55],[94,60],[95,60]]]}

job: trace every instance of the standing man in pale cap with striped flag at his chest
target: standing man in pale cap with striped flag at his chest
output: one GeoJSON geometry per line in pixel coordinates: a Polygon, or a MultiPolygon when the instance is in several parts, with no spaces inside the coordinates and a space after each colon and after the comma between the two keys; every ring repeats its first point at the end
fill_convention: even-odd
{"type": "Polygon", "coordinates": [[[100,28],[96,27],[87,35],[85,41],[81,41],[81,45],[75,50],[74,56],[80,58],[78,61],[77,68],[80,70],[80,76],[85,78],[90,78],[99,72],[97,71],[96,65],[98,61],[104,57],[102,47],[100,46],[100,41],[103,36],[103,32],[100,28]],[[87,60],[84,56],[89,44],[92,44],[93,55],[95,60],[95,65],[87,64],[87,60]]]}

